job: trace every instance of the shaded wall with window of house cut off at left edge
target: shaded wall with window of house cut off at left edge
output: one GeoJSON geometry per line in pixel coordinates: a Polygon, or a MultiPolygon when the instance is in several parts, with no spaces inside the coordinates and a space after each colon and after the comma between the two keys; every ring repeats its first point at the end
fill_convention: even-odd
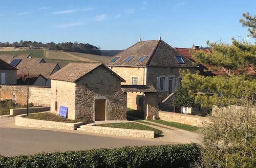
{"type": "Polygon", "coordinates": [[[0,84],[1,85],[16,85],[16,70],[0,70],[0,84]],[[5,77],[5,83],[2,81],[2,75],[5,77]]]}

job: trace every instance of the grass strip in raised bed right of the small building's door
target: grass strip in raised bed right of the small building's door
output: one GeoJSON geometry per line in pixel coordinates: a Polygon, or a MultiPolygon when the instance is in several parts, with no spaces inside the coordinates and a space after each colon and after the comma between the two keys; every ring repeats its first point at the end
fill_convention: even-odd
{"type": "Polygon", "coordinates": [[[126,128],[126,129],[139,129],[139,130],[150,130],[155,131],[155,134],[161,135],[163,132],[159,129],[148,127],[139,123],[109,123],[109,124],[99,124],[97,126],[101,127],[112,127],[112,128],[126,128]]]}

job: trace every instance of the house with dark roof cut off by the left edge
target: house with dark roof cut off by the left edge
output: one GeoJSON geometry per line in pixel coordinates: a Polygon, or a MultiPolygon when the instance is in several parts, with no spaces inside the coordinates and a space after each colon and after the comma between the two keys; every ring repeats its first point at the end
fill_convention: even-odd
{"type": "Polygon", "coordinates": [[[0,84],[15,85],[17,69],[0,59],[0,84]]]}

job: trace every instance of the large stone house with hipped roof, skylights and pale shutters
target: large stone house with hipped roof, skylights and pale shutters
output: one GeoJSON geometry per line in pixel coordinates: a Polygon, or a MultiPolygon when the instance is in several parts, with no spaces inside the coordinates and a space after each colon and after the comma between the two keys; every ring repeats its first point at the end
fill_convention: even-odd
{"type": "MultiPolygon", "coordinates": [[[[154,86],[160,107],[165,106],[164,103],[172,103],[170,97],[182,80],[179,70],[196,71],[191,60],[161,38],[148,41],[140,39],[136,44],[115,55],[106,65],[126,80],[122,85],[154,86]]],[[[127,107],[143,109],[143,97],[143,93],[127,93],[127,107]]]]}

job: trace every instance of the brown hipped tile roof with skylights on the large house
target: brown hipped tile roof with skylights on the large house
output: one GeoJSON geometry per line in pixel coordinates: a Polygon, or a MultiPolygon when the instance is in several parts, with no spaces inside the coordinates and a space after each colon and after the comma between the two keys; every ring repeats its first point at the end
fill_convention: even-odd
{"type": "Polygon", "coordinates": [[[115,55],[115,62],[109,61],[108,66],[159,66],[159,67],[193,67],[193,63],[176,49],[162,40],[139,41],[131,47],[115,55]],[[183,58],[185,64],[179,64],[176,56],[183,58]],[[131,61],[125,62],[129,57],[131,61]],[[142,62],[138,62],[146,57],[142,62]]]}

